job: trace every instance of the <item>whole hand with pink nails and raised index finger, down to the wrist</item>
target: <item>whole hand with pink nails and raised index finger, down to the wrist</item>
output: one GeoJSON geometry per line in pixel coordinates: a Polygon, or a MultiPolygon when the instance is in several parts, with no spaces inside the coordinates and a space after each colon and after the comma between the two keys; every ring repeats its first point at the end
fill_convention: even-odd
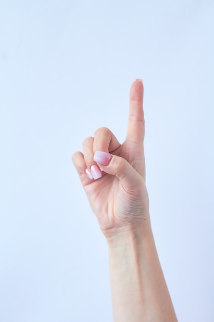
{"type": "Polygon", "coordinates": [[[89,203],[106,238],[136,227],[150,228],[145,186],[143,83],[130,89],[127,135],[121,145],[107,128],[83,142],[72,156],[89,203]],[[101,170],[102,169],[102,170],[101,170]]]}

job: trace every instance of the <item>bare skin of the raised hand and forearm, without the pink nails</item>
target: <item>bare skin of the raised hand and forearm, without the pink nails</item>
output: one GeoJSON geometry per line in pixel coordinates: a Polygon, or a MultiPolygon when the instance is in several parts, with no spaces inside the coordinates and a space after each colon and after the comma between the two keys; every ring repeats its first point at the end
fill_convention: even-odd
{"type": "Polygon", "coordinates": [[[109,249],[114,322],[177,321],[155,248],[145,185],[143,83],[130,88],[126,139],[121,145],[107,128],[83,142],[72,156],[109,249]],[[94,161],[96,151],[109,162],[94,161]],[[91,166],[99,178],[89,178],[91,166]],[[99,174],[99,173],[98,173],[99,174]]]}

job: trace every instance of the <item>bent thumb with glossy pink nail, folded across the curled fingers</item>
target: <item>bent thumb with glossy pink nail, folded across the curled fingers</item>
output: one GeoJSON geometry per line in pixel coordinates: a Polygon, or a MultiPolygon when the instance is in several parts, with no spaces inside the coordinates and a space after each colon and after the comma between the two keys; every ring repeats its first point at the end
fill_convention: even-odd
{"type": "Polygon", "coordinates": [[[141,175],[123,157],[96,151],[93,159],[106,173],[118,177],[124,188],[130,189],[142,180],[141,175]]]}

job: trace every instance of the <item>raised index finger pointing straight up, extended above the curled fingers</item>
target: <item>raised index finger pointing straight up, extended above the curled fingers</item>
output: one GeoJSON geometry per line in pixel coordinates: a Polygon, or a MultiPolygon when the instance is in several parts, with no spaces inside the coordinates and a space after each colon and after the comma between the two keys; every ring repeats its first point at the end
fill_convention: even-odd
{"type": "Polygon", "coordinates": [[[132,143],[143,144],[145,121],[143,112],[143,82],[135,80],[130,88],[129,120],[126,140],[132,143]]]}

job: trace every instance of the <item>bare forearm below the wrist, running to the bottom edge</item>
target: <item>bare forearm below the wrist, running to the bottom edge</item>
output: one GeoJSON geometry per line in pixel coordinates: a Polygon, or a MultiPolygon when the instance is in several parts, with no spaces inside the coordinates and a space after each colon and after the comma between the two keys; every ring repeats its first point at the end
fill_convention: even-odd
{"type": "Polygon", "coordinates": [[[176,322],[151,230],[107,242],[114,322],[176,322]]]}

